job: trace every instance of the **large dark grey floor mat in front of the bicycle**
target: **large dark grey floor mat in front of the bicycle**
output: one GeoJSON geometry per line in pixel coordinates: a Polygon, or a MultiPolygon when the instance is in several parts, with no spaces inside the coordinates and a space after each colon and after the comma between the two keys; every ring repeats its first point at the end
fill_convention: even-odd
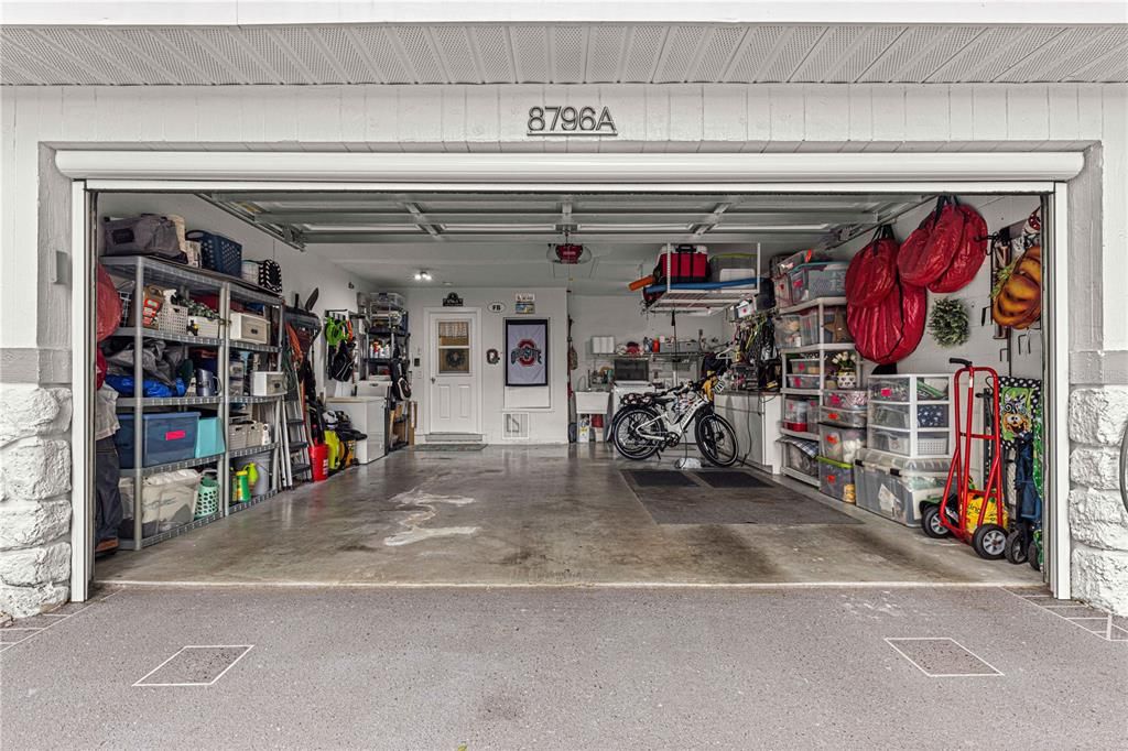
{"type": "Polygon", "coordinates": [[[695,486],[633,488],[655,524],[861,524],[856,519],[793,491],[695,486]]]}

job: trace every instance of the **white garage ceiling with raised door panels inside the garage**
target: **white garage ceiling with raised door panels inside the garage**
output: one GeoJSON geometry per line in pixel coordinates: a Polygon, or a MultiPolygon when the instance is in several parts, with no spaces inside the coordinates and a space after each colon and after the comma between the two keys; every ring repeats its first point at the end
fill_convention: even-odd
{"type": "Polygon", "coordinates": [[[564,286],[626,293],[667,242],[772,255],[832,246],[928,201],[901,195],[209,193],[202,198],[384,286],[564,286]],[[573,241],[585,263],[552,263],[573,241]]]}

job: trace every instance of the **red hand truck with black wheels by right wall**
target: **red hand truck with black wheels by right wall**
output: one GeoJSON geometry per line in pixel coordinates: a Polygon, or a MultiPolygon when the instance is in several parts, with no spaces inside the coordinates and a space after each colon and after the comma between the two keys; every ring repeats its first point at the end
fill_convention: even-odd
{"type": "Polygon", "coordinates": [[[997,560],[1006,551],[1006,502],[1003,496],[1003,463],[999,416],[998,373],[993,368],[976,368],[968,360],[953,357],[953,365],[962,365],[953,379],[955,447],[948,469],[944,495],[938,505],[929,506],[920,518],[920,528],[932,538],[953,534],[968,542],[981,558],[997,560]],[[982,433],[975,432],[976,377],[984,376],[990,389],[989,418],[982,433]],[[961,400],[963,381],[967,396],[961,400]],[[982,489],[971,480],[971,449],[975,441],[990,448],[990,467],[984,478],[982,489]]]}

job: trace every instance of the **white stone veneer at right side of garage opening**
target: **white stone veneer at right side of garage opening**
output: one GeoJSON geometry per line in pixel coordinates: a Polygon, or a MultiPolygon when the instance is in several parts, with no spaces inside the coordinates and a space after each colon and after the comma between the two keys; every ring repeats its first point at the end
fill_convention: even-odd
{"type": "Polygon", "coordinates": [[[1075,388],[1069,398],[1069,529],[1073,595],[1128,615],[1128,511],[1120,497],[1120,441],[1128,386],[1075,388]]]}

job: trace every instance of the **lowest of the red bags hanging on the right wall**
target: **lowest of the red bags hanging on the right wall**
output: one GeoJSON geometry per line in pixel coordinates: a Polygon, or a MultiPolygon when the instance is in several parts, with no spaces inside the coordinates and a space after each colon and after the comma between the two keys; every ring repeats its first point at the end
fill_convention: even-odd
{"type": "Polygon", "coordinates": [[[898,281],[876,304],[848,304],[846,324],[858,354],[884,365],[904,360],[920,344],[927,310],[924,288],[898,281]]]}

